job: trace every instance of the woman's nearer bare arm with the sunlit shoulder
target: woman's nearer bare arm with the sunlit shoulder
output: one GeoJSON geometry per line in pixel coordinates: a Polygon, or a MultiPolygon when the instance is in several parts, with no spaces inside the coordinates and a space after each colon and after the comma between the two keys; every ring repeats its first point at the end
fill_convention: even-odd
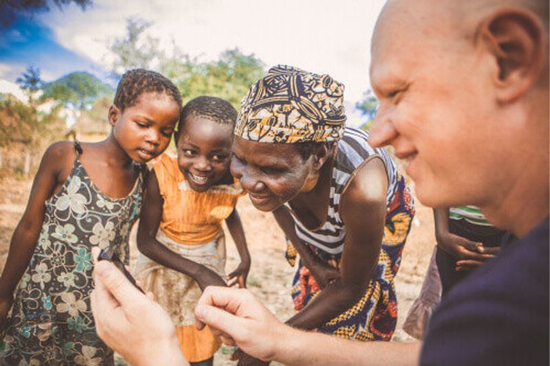
{"type": "Polygon", "coordinates": [[[387,187],[386,169],[380,159],[371,159],[358,170],[340,203],[340,216],[346,225],[340,277],[287,324],[302,329],[318,328],[360,299],[382,247],[387,187]]]}

